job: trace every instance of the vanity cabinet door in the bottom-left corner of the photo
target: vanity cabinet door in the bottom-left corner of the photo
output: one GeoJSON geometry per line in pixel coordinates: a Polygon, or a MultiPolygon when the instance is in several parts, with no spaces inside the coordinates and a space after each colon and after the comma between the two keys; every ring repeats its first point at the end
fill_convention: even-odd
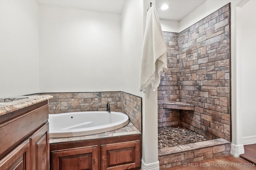
{"type": "Polygon", "coordinates": [[[29,139],[0,160],[0,170],[30,170],[29,139]]]}

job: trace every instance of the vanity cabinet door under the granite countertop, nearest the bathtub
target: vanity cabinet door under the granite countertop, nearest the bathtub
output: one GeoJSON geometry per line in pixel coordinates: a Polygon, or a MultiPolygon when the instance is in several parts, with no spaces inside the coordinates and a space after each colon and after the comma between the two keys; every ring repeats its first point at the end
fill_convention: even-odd
{"type": "Polygon", "coordinates": [[[32,170],[50,170],[49,124],[45,124],[30,137],[32,170]]]}

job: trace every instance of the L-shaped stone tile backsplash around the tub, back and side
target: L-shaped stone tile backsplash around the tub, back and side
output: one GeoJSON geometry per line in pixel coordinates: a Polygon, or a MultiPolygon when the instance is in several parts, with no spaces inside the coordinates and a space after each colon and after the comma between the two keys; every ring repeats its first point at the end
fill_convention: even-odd
{"type": "Polygon", "coordinates": [[[142,98],[126,92],[76,92],[42,93],[51,95],[49,113],[67,113],[75,111],[106,111],[109,102],[111,111],[128,115],[130,121],[141,132],[142,98]]]}

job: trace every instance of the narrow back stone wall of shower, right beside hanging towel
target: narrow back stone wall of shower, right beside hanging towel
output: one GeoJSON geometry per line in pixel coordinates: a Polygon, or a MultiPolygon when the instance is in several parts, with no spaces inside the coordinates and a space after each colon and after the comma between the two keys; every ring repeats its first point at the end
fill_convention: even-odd
{"type": "Polygon", "coordinates": [[[158,127],[166,127],[180,124],[180,115],[176,109],[164,109],[166,102],[179,101],[179,72],[178,67],[178,33],[163,32],[167,48],[167,72],[161,76],[158,87],[158,127]]]}

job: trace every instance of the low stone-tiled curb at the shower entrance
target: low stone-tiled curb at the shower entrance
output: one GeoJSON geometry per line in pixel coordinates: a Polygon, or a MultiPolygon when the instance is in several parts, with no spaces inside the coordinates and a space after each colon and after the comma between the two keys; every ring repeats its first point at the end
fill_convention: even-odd
{"type": "Polygon", "coordinates": [[[230,155],[230,145],[229,141],[220,138],[158,149],[160,170],[230,155]]]}

